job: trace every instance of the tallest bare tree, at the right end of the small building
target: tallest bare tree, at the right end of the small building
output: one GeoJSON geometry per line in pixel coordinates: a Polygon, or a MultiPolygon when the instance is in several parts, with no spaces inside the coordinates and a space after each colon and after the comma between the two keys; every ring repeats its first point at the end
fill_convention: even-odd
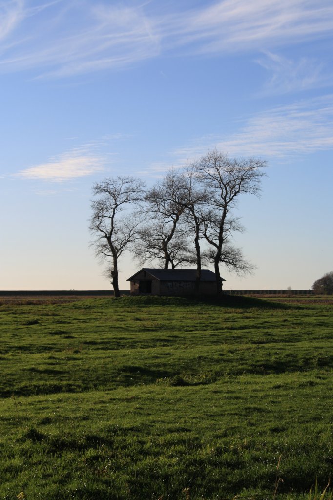
{"type": "Polygon", "coordinates": [[[231,234],[242,229],[239,219],[231,215],[230,209],[234,207],[237,195],[259,194],[265,166],[261,159],[229,158],[216,149],[208,151],[195,163],[198,178],[209,193],[203,235],[212,246],[209,253],[214,263],[217,295],[221,293],[220,263],[238,274],[251,270],[251,264],[243,258],[241,250],[230,244],[231,234]]]}

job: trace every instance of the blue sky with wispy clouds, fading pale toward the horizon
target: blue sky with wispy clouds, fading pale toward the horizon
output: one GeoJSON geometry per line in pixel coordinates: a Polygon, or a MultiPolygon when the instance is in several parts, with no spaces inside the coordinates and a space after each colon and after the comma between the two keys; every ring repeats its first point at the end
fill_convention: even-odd
{"type": "Polygon", "coordinates": [[[333,269],[332,57],[331,0],[0,0],[0,289],[110,288],[92,184],[214,148],[268,165],[236,209],[255,270],[224,288],[310,288],[333,269]]]}

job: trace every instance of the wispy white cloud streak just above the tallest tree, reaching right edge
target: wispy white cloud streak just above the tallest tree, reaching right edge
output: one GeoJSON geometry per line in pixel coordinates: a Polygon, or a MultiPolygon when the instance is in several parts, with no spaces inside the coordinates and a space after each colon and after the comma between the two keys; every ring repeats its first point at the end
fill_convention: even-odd
{"type": "MultiPolygon", "coordinates": [[[[232,156],[287,157],[333,149],[333,95],[275,107],[248,118],[233,135],[205,136],[173,151],[175,164],[217,148],[232,156]]],[[[152,165],[155,168],[155,165],[152,165]]]]}

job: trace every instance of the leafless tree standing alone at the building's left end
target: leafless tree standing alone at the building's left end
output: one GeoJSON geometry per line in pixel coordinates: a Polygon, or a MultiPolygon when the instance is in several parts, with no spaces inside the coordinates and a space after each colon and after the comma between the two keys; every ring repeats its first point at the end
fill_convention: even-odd
{"type": "Polygon", "coordinates": [[[106,260],[114,296],[119,297],[118,259],[137,238],[138,219],[124,212],[142,199],[144,183],[134,177],[106,178],[92,186],[90,230],[96,255],[106,260]]]}

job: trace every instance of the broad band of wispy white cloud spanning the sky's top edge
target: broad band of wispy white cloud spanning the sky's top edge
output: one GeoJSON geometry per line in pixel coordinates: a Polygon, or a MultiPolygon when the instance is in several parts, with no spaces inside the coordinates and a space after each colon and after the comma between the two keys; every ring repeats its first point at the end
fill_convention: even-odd
{"type": "Polygon", "coordinates": [[[1,3],[0,71],[65,77],[131,65],[173,49],[190,53],[272,50],[333,30],[330,0],[219,0],[197,8],[169,2],[74,0],[1,3]],[[163,10],[163,11],[162,11],[163,10]]]}

